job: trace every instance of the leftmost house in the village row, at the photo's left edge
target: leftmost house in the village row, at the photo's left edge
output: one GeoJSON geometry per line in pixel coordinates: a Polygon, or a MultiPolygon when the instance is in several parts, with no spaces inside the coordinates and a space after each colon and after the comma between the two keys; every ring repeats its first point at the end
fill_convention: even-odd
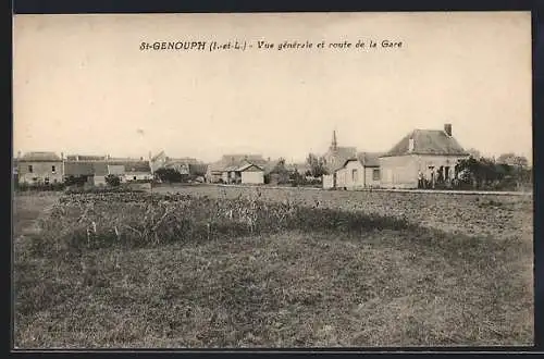
{"type": "Polygon", "coordinates": [[[54,152],[27,152],[17,159],[20,184],[39,185],[63,181],[63,160],[54,152]]]}

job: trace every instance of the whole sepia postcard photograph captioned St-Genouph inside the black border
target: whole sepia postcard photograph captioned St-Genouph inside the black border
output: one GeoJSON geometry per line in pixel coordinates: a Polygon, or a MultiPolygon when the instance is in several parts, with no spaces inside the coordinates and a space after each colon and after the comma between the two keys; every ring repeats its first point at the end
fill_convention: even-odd
{"type": "Polygon", "coordinates": [[[13,16],[12,348],[534,345],[530,12],[13,16]]]}

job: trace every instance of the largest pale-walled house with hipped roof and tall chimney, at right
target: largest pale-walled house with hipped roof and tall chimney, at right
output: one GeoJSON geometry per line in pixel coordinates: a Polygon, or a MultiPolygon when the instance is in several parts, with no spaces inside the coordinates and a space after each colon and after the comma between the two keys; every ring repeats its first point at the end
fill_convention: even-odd
{"type": "Polygon", "coordinates": [[[423,183],[450,183],[455,166],[469,153],[452,133],[444,129],[415,129],[380,157],[381,187],[418,188],[423,183]]]}

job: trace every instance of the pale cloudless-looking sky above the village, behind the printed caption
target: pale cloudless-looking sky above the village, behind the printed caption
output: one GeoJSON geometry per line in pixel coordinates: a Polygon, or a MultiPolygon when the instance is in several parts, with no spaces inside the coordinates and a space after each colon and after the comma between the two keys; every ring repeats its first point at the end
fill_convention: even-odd
{"type": "Polygon", "coordinates": [[[413,128],[531,159],[530,13],[17,15],[14,150],[302,160],[413,128]],[[140,51],[141,41],[378,48],[140,51]],[[382,40],[401,48],[382,49],[382,40]]]}

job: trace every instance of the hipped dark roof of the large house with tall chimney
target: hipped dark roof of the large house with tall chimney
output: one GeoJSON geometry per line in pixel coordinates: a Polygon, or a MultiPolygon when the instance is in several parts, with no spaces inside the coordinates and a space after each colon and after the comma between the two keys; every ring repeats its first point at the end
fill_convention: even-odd
{"type": "Polygon", "coordinates": [[[405,154],[442,154],[442,156],[466,156],[467,151],[441,129],[415,129],[395,145],[382,157],[405,154]],[[409,150],[410,138],[413,139],[413,150],[409,150]]]}

